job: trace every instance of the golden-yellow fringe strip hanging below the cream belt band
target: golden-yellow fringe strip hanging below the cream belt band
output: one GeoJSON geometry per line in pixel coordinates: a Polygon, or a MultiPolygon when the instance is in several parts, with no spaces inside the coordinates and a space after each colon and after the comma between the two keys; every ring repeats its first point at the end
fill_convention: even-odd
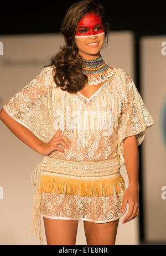
{"type": "Polygon", "coordinates": [[[102,197],[103,195],[112,195],[113,187],[116,193],[120,193],[121,188],[125,191],[125,180],[121,174],[117,177],[91,180],[43,174],[39,193],[63,194],[65,192],[65,194],[78,195],[81,197],[102,197]],[[103,192],[105,194],[103,194],[103,192]]]}

